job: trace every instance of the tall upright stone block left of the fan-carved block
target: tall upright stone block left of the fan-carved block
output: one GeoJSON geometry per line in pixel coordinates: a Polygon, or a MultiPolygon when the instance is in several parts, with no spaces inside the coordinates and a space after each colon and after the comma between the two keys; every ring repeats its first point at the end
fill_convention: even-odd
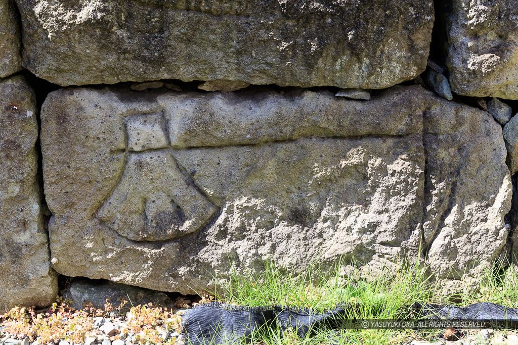
{"type": "Polygon", "coordinates": [[[0,80],[0,312],[57,295],[36,177],[36,111],[22,77],[0,80]]]}

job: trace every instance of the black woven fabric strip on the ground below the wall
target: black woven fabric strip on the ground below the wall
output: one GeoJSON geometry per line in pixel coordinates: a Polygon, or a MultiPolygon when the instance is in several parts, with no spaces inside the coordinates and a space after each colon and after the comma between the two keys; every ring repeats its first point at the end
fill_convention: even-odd
{"type": "MultiPolygon", "coordinates": [[[[252,332],[279,327],[281,336],[293,329],[299,337],[316,330],[340,329],[357,320],[348,319],[353,304],[340,304],[333,310],[316,312],[310,308],[264,306],[241,307],[212,302],[199,304],[184,317],[182,335],[186,344],[232,344],[248,338],[252,332]]],[[[516,328],[518,309],[483,302],[467,307],[414,303],[408,317],[420,320],[486,321],[516,328]]]]}

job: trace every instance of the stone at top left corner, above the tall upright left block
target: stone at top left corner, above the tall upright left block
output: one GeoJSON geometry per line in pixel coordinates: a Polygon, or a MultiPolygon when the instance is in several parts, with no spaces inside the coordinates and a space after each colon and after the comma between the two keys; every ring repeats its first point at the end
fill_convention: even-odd
{"type": "Polygon", "coordinates": [[[21,37],[14,0],[0,0],[0,78],[22,69],[21,37]]]}

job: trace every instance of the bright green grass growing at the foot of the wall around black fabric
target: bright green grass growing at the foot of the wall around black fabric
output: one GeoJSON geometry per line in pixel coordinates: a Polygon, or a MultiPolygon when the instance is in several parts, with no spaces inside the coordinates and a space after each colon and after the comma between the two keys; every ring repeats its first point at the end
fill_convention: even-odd
{"type": "MultiPolygon", "coordinates": [[[[267,262],[261,274],[233,272],[229,277],[216,279],[220,284],[215,290],[215,300],[249,307],[289,305],[315,311],[333,309],[339,303],[348,302],[356,307],[348,311],[346,318],[356,320],[405,318],[408,307],[415,302],[458,306],[492,302],[518,307],[518,268],[513,266],[507,271],[501,270],[499,275],[485,269],[469,291],[448,296],[444,295],[441,286],[430,280],[427,267],[418,262],[399,263],[400,269],[384,267],[370,275],[359,274],[355,269],[344,273],[342,261],[332,265],[331,272],[329,265],[323,265],[312,264],[300,273],[296,268],[279,268],[267,262]]],[[[252,334],[247,342],[265,345],[409,344],[412,340],[433,341],[439,331],[322,330],[305,338],[298,338],[296,330],[285,332],[283,336],[281,333],[279,328],[268,328],[252,334]]]]}

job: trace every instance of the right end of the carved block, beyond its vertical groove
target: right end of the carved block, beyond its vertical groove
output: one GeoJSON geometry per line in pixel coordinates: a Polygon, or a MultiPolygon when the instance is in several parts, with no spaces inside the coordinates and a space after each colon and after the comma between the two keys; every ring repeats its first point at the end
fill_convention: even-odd
{"type": "Polygon", "coordinates": [[[425,112],[424,124],[428,263],[438,278],[477,278],[508,236],[512,185],[501,127],[487,112],[446,101],[425,112]]]}

